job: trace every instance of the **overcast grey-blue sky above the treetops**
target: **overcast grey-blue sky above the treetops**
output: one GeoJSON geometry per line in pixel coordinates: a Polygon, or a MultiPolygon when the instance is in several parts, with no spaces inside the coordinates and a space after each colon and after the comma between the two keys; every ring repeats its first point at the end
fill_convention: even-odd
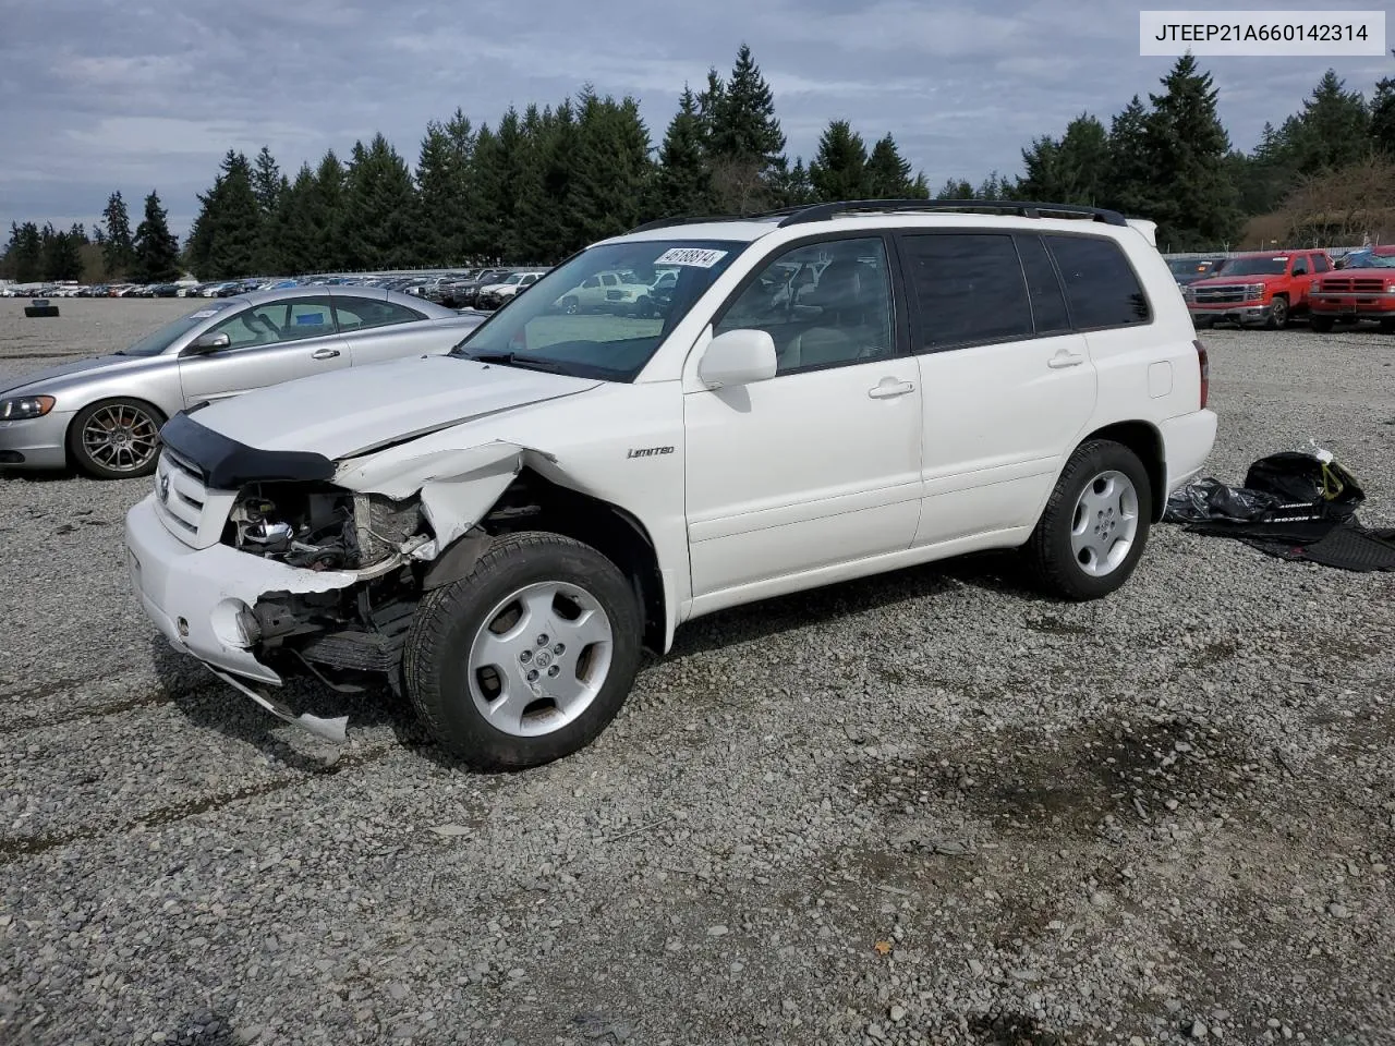
{"type": "MultiPolygon", "coordinates": [[[[1168,7],[1149,3],[1148,7],[1168,7]]],[[[1172,4],[1170,7],[1200,7],[1172,4]]],[[[1313,10],[1331,3],[1229,3],[1313,10]]],[[[1378,8],[1371,3],[1343,7],[1378,8]]],[[[1147,100],[1172,59],[1138,57],[1138,7],[933,0],[527,4],[459,0],[47,0],[0,4],[0,230],[98,219],[121,190],[140,220],[159,190],[183,234],[227,148],[271,146],[293,174],[382,131],[409,163],[425,123],[460,106],[494,124],[512,103],[585,82],[635,95],[657,146],[684,81],[723,74],[742,40],[776,93],[790,155],[830,120],[869,145],[890,131],[933,188],[1016,174],[1034,135],[1083,110],[1147,100]]],[[[1201,60],[1233,142],[1251,148],[1328,68],[1370,96],[1395,60],[1201,60]]]]}

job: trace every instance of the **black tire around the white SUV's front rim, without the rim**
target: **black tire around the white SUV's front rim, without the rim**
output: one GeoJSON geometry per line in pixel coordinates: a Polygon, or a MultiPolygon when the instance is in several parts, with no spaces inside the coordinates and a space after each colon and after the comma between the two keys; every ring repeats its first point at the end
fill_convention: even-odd
{"type": "Polygon", "coordinates": [[[642,637],[639,600],[610,559],[561,534],[508,534],[497,538],[465,577],[421,600],[403,655],[406,690],[421,721],[467,767],[541,766],[586,748],[615,718],[639,671],[642,637]],[[519,736],[498,729],[476,707],[472,649],[501,600],[525,586],[550,582],[585,590],[604,609],[612,636],[610,667],[576,718],[551,732],[519,736]]]}

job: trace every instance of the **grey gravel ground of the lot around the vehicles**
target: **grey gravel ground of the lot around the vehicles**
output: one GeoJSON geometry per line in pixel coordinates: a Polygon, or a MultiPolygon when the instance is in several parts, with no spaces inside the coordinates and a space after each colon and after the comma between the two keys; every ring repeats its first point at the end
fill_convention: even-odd
{"type": "MultiPolygon", "coordinates": [[[[188,304],[21,308],[0,379],[188,304]]],[[[1212,474],[1315,438],[1395,524],[1395,339],[1205,340],[1212,474]]],[[[843,584],[483,777],[388,696],[333,760],[173,655],[146,484],[0,480],[6,1043],[1395,1042],[1389,575],[1163,526],[1088,605],[999,556],[843,584]]]]}

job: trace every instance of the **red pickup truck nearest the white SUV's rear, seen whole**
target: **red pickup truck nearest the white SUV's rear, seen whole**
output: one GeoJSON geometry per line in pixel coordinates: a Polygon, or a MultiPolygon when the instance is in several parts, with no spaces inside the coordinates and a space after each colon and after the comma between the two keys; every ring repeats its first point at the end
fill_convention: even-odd
{"type": "Polygon", "coordinates": [[[1229,322],[1278,329],[1309,311],[1314,278],[1331,271],[1327,251],[1237,254],[1215,275],[1184,286],[1182,297],[1197,328],[1229,322]]]}

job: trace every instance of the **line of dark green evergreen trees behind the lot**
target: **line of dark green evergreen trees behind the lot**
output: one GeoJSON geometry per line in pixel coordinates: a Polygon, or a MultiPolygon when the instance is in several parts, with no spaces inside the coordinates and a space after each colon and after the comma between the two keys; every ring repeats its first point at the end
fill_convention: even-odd
{"type": "MultiPolygon", "coordinates": [[[[1147,103],[1136,95],[1108,128],[1083,113],[1059,138],[1035,138],[1016,179],[950,179],[936,198],[1108,206],[1158,222],[1170,250],[1211,250],[1334,172],[1395,160],[1392,78],[1367,102],[1329,70],[1250,153],[1232,148],[1194,57],[1179,59],[1161,86],[1147,103]]],[[[773,92],[742,45],[730,75],[711,68],[700,89],[685,85],[657,149],[633,98],[586,86],[557,105],[511,107],[494,127],[456,109],[427,126],[414,165],[382,134],[294,177],[265,146],[252,159],[229,149],[181,254],[155,192],[134,234],[114,192],[93,243],[105,278],[145,282],[172,279],[180,264],[201,279],[552,264],[654,218],[929,195],[891,134],[868,148],[847,120],[827,124],[808,165],[791,163],[773,92]]],[[[80,226],[15,225],[0,276],[75,279],[74,248],[88,247],[80,226]]]]}

